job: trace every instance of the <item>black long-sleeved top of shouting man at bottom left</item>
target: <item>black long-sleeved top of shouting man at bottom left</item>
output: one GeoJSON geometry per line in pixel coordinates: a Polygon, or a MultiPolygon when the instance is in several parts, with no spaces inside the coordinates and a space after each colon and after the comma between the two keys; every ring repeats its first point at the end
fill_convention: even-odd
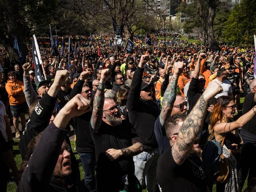
{"type": "Polygon", "coordinates": [[[65,185],[52,176],[62,143],[68,132],[68,130],[59,129],[54,123],[45,129],[24,170],[17,192],[68,192],[73,191],[72,185],[77,189],[75,191],[84,191],[78,179],[73,176],[74,174],[65,177],[65,185]]]}

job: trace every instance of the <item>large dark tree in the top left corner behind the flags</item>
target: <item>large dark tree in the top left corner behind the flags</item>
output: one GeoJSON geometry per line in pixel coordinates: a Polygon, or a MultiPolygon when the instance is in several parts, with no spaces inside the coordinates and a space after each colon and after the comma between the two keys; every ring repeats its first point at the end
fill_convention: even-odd
{"type": "Polygon", "coordinates": [[[31,33],[49,31],[49,22],[57,5],[57,0],[0,0],[0,44],[16,62],[19,57],[12,51],[15,36],[25,58],[31,33]]]}

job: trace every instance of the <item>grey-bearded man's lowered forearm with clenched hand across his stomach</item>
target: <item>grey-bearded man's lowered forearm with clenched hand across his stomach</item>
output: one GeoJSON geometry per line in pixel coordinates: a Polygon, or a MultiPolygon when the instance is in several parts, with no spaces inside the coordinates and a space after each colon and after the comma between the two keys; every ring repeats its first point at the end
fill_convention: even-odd
{"type": "Polygon", "coordinates": [[[132,143],[133,145],[123,149],[108,149],[106,151],[107,157],[113,161],[120,158],[122,155],[127,157],[133,157],[140,154],[143,151],[142,143],[138,142],[136,138],[132,138],[132,143]]]}

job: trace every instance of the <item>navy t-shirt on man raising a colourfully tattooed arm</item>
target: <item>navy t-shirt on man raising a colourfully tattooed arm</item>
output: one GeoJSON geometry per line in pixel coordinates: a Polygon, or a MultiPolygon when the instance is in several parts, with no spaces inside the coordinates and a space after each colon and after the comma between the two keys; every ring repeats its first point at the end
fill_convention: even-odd
{"type": "Polygon", "coordinates": [[[163,154],[166,149],[170,147],[170,142],[168,137],[166,136],[165,128],[160,123],[160,117],[157,117],[157,120],[155,121],[155,138],[157,139],[158,143],[158,151],[159,154],[163,154]]]}

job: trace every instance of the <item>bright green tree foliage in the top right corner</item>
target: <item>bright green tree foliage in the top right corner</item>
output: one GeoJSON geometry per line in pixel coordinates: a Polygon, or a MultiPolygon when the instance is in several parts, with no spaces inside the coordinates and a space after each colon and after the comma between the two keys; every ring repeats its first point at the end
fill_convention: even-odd
{"type": "Polygon", "coordinates": [[[253,44],[253,35],[256,34],[255,10],[256,0],[243,0],[234,6],[223,32],[225,41],[234,41],[234,45],[253,44]]]}

